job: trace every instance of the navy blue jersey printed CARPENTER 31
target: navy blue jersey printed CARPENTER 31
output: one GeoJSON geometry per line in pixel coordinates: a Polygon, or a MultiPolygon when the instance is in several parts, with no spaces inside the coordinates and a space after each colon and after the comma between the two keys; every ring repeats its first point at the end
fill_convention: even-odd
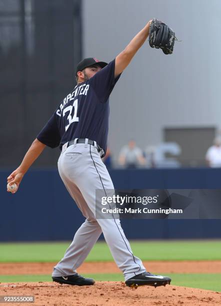
{"type": "Polygon", "coordinates": [[[95,140],[106,151],[109,95],[118,80],[114,78],[115,59],[87,81],[77,84],[57,107],[37,139],[60,149],[74,138],[95,140]]]}

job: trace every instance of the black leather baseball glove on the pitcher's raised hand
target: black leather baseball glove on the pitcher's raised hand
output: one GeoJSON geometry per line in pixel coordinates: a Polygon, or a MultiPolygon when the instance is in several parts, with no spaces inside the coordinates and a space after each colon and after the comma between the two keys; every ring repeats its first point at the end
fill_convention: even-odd
{"type": "Polygon", "coordinates": [[[164,54],[172,54],[177,38],[175,32],[162,21],[153,18],[149,26],[149,45],[162,49],[164,54]]]}

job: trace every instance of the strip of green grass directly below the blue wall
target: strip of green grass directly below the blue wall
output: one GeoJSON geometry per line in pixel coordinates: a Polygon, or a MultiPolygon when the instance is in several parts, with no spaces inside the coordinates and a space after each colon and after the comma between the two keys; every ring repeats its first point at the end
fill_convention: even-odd
{"type": "MultiPolygon", "coordinates": [[[[0,243],[0,262],[52,262],[63,256],[70,242],[0,243]]],[[[221,260],[221,241],[131,241],[142,260],[221,260]]],[[[112,261],[105,242],[97,242],[86,261],[112,261]]]]}

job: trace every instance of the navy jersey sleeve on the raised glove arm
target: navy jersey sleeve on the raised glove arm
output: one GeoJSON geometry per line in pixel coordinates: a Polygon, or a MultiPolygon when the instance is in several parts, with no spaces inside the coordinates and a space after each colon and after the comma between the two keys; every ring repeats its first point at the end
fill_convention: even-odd
{"type": "Polygon", "coordinates": [[[114,78],[114,70],[115,58],[89,79],[89,83],[102,103],[106,102],[121,75],[120,73],[114,78]]]}

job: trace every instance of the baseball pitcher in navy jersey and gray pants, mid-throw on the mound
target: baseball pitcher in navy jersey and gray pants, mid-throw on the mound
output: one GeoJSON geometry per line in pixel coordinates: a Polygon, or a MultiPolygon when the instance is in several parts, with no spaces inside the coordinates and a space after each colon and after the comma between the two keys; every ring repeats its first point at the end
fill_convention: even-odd
{"type": "MultiPolygon", "coordinates": [[[[161,21],[158,22],[165,25],[161,21]]],[[[123,70],[147,39],[150,25],[151,41],[154,43],[157,31],[160,32],[160,28],[157,29],[156,26],[156,19],[147,22],[125,49],[108,64],[95,57],[84,58],[78,63],[75,73],[76,86],[59,103],[26,152],[21,164],[7,177],[7,182],[16,183],[18,188],[25,172],[44,147],[59,146],[60,177],[85,216],[85,222],[76,231],[63,258],[54,266],[53,281],[70,285],[94,283],[93,279],[77,274],[76,269],[87,257],[101,232],[124,275],[126,285],[160,286],[171,281],[167,276],[154,275],[146,271],[142,261],[132,253],[118,218],[95,217],[95,190],[101,189],[106,194],[106,190],[114,189],[109,173],[101,160],[106,151],[109,95],[123,70]]],[[[167,50],[166,53],[171,53],[169,43],[174,41],[169,39],[168,42],[164,31],[161,31],[160,35],[163,35],[164,46],[157,38],[159,47],[164,48],[164,53],[165,48],[170,47],[170,52],[167,50]]],[[[157,47],[156,43],[151,46],[157,47]]],[[[15,193],[17,188],[8,191],[15,193]]]]}

